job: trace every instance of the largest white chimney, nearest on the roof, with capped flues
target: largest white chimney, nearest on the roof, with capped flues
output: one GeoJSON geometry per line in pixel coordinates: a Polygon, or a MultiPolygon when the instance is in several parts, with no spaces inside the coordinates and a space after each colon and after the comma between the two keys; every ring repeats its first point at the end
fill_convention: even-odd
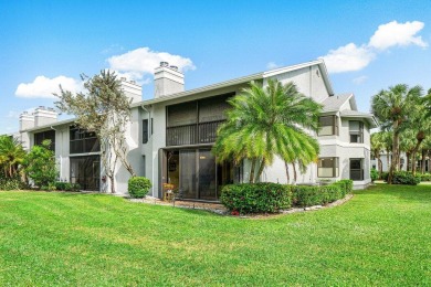
{"type": "Polygon", "coordinates": [[[185,91],[185,75],[177,66],[169,66],[168,62],[160,62],[154,74],[154,97],[162,97],[185,91]]]}

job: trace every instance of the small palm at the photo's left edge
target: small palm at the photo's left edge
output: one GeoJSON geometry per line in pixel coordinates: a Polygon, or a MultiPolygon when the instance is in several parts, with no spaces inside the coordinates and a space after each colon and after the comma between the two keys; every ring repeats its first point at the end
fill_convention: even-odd
{"type": "Polygon", "coordinates": [[[6,178],[18,176],[19,166],[24,161],[25,151],[21,144],[9,136],[0,136],[0,166],[6,178]]]}

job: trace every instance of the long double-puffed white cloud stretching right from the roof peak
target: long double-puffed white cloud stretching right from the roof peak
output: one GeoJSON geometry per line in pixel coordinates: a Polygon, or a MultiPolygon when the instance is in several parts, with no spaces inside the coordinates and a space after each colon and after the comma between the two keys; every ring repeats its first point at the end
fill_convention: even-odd
{"type": "Polygon", "coordinates": [[[379,25],[368,44],[349,43],[336,50],[329,50],[328,54],[322,59],[325,60],[329,73],[359,71],[368,66],[379,52],[391,46],[418,45],[427,47],[428,43],[417,35],[423,26],[424,24],[419,21],[406,23],[392,21],[379,25]]]}

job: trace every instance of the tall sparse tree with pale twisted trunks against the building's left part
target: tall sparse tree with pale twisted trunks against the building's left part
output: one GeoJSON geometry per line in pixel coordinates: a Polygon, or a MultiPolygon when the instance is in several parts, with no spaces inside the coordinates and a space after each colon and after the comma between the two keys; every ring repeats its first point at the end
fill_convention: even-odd
{"type": "Polygon", "coordinates": [[[73,94],[61,87],[56,106],[76,116],[76,124],[94,131],[99,139],[102,164],[109,179],[111,192],[115,193],[114,177],[117,161],[135,177],[127,160],[128,148],[125,127],[130,121],[130,99],[120,88],[120,81],[114,72],[102,71],[93,77],[82,76],[86,92],[73,94]]]}

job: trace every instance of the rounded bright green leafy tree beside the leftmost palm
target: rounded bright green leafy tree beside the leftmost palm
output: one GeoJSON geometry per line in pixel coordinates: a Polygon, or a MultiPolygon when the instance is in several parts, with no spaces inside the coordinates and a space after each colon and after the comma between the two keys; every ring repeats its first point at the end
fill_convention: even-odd
{"type": "Polygon", "coordinates": [[[59,178],[54,151],[50,150],[51,140],[45,139],[41,146],[33,146],[24,160],[27,176],[38,188],[54,187],[59,178]]]}

